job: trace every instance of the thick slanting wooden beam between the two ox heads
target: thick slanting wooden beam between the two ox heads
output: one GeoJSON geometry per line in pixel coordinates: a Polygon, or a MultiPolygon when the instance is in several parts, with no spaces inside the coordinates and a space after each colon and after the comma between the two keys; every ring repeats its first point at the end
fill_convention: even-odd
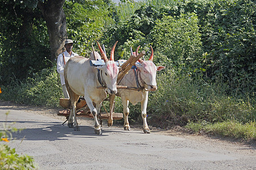
{"type": "Polygon", "coordinates": [[[131,56],[123,65],[121,66],[122,71],[117,76],[117,84],[119,84],[122,80],[122,78],[125,76],[125,74],[135,65],[135,63],[138,61],[139,58],[144,56],[146,52],[143,50],[141,53],[138,54],[138,56],[131,56]]]}

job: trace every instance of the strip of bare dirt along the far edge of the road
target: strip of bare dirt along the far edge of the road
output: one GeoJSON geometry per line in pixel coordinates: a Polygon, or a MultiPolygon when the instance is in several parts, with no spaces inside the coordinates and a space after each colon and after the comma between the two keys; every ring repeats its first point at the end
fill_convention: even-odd
{"type": "MultiPolygon", "coordinates": [[[[40,114],[43,116],[48,116],[51,118],[55,118],[58,120],[62,120],[63,122],[66,120],[64,116],[57,116],[57,112],[59,108],[47,108],[47,107],[35,107],[30,105],[24,104],[15,104],[9,101],[1,101],[0,100],[0,108],[17,110],[17,111],[25,111],[35,114],[40,114]]],[[[93,122],[90,118],[82,118],[79,117],[78,120],[79,124],[83,124],[84,121],[93,122]]],[[[106,120],[104,120],[103,124],[107,124],[106,120]]],[[[122,125],[114,125],[113,128],[123,129],[122,125]]],[[[131,130],[142,130],[141,126],[133,125],[131,126],[131,130]]],[[[185,139],[189,139],[192,141],[197,141],[202,143],[204,146],[219,146],[224,148],[225,150],[233,150],[236,152],[240,152],[241,154],[256,156],[256,143],[255,141],[242,141],[239,139],[227,138],[227,137],[220,137],[216,135],[210,135],[205,133],[193,133],[187,129],[181,128],[180,126],[176,126],[169,130],[163,130],[156,127],[153,127],[151,133],[155,134],[162,134],[162,135],[169,135],[174,137],[181,137],[185,139]],[[235,147],[234,147],[235,146],[235,147]],[[246,150],[244,148],[247,148],[246,150]]]]}

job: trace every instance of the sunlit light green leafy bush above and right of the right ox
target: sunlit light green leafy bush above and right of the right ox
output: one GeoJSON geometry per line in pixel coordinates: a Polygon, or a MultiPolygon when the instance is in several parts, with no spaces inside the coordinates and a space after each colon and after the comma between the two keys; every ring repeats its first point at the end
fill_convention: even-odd
{"type": "Polygon", "coordinates": [[[154,49],[169,58],[177,69],[197,67],[202,53],[197,16],[163,16],[155,23],[150,33],[154,49]]]}

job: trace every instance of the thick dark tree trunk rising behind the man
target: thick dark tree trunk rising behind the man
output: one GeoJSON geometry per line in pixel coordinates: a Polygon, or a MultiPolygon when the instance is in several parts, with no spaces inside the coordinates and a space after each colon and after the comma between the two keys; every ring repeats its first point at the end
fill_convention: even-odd
{"type": "Polygon", "coordinates": [[[63,10],[65,0],[48,0],[39,2],[49,33],[51,47],[51,61],[64,50],[64,41],[67,39],[66,16],[63,10]]]}

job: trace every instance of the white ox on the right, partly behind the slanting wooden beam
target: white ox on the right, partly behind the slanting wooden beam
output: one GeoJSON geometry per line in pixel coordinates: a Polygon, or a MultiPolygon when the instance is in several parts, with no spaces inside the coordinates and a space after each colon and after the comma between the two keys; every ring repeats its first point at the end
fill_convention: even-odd
{"type": "MultiPolygon", "coordinates": [[[[139,47],[138,47],[139,48],[139,47]]],[[[138,48],[136,50],[136,56],[138,56],[138,48]]],[[[139,59],[139,64],[137,64],[136,74],[138,75],[138,84],[143,87],[144,89],[141,91],[132,91],[132,90],[123,90],[119,89],[117,90],[117,96],[121,97],[122,105],[123,105],[123,114],[125,118],[125,122],[123,125],[123,128],[125,130],[130,130],[130,125],[128,121],[128,115],[129,115],[129,101],[135,105],[138,102],[141,102],[141,116],[143,119],[143,131],[144,133],[150,133],[150,129],[147,125],[147,101],[148,101],[148,91],[155,91],[157,89],[156,86],[156,71],[160,71],[165,69],[164,66],[155,66],[153,63],[153,57],[154,52],[152,47],[151,48],[151,55],[148,61],[143,61],[142,59],[139,59]]],[[[135,73],[134,70],[131,69],[128,71],[128,73],[123,77],[121,82],[119,82],[118,85],[122,86],[129,86],[129,87],[137,87],[137,81],[135,79],[135,73]]],[[[110,116],[108,120],[108,125],[113,125],[113,103],[114,103],[114,96],[110,95],[110,116]]]]}

